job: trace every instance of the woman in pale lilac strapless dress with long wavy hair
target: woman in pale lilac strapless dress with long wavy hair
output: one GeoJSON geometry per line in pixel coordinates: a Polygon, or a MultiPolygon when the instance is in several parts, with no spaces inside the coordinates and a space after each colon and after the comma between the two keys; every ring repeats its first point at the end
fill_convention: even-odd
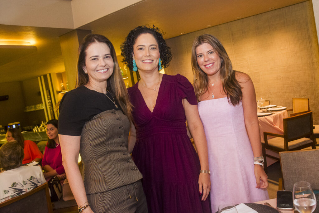
{"type": "Polygon", "coordinates": [[[267,175],[252,80],[234,71],[221,42],[198,36],[192,47],[192,69],[198,111],[208,142],[211,210],[221,203],[267,200],[267,175]],[[234,193],[236,192],[236,193],[234,193]]]}

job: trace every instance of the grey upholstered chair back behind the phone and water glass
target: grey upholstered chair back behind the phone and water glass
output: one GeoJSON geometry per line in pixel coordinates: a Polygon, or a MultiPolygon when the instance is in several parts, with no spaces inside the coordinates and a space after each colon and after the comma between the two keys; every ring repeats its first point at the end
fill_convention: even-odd
{"type": "Polygon", "coordinates": [[[279,152],[279,158],[283,177],[279,190],[293,191],[298,181],[308,181],[313,190],[319,189],[319,149],[279,152]]]}

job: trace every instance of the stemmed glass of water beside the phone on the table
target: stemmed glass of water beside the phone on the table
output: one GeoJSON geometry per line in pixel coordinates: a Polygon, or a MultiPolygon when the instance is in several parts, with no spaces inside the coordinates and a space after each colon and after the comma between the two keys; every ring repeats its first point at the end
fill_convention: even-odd
{"type": "Polygon", "coordinates": [[[312,213],[316,208],[315,194],[307,181],[293,185],[293,205],[300,213],[312,213]]]}

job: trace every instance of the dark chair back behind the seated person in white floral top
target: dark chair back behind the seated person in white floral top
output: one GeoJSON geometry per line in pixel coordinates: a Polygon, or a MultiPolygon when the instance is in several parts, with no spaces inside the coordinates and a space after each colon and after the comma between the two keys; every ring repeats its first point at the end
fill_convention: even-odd
{"type": "Polygon", "coordinates": [[[0,203],[0,212],[52,213],[48,183],[0,203]]]}

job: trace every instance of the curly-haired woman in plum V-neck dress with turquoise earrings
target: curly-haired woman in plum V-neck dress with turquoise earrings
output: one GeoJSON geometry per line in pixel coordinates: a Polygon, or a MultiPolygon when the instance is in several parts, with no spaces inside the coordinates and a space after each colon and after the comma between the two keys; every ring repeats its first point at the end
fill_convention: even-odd
{"type": "Polygon", "coordinates": [[[128,88],[136,127],[129,151],[143,174],[148,211],[211,212],[207,144],[191,83],[179,74],[159,73],[172,55],[157,27],[131,30],[121,50],[123,62],[141,77],[128,88]]]}

